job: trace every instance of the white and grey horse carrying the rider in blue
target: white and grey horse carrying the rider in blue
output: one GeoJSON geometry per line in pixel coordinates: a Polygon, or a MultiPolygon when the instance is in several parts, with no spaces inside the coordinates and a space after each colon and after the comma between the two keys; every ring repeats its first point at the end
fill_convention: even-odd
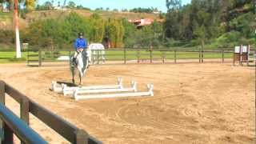
{"type": "Polygon", "coordinates": [[[78,51],[78,55],[73,62],[73,57],[70,58],[70,70],[72,74],[72,82],[74,83],[74,67],[78,70],[79,85],[82,85],[82,78],[86,75],[86,70],[89,68],[89,58],[86,50],[78,51]]]}

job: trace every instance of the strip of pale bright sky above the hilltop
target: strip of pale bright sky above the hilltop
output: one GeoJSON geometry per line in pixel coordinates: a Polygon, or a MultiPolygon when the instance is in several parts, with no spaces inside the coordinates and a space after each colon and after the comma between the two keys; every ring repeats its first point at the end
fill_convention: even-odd
{"type": "MultiPolygon", "coordinates": [[[[38,3],[41,5],[42,3],[51,0],[38,0],[38,3]]],[[[166,12],[166,0],[66,0],[66,4],[70,1],[75,2],[77,5],[82,5],[84,7],[89,7],[94,10],[95,8],[103,7],[106,9],[107,7],[110,10],[113,9],[132,9],[137,7],[149,8],[153,6],[157,7],[158,10],[162,10],[166,12]]],[[[58,5],[58,2],[61,2],[63,5],[64,0],[54,0],[54,5],[58,5]]],[[[191,0],[182,0],[182,5],[186,5],[190,3],[191,0]]]]}

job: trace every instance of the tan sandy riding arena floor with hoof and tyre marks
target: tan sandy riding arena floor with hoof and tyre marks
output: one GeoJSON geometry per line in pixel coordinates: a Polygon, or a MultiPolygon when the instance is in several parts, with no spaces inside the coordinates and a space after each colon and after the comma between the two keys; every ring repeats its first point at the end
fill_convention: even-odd
{"type": "MultiPolygon", "coordinates": [[[[90,66],[86,85],[122,77],[140,90],[154,83],[154,97],[75,102],[49,90],[70,81],[66,66],[0,65],[0,79],[105,143],[253,143],[254,68],[230,64],[90,66]]],[[[10,98],[7,105],[18,111],[10,98]]],[[[66,143],[35,118],[31,126],[50,143],[66,143]]]]}

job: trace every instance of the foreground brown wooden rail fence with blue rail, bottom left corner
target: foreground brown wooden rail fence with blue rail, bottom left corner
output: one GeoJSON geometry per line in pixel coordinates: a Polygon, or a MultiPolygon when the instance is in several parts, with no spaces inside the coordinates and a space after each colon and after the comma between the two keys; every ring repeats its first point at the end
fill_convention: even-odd
{"type": "Polygon", "coordinates": [[[40,121],[44,122],[51,129],[55,130],[68,142],[77,144],[100,144],[96,138],[87,134],[85,130],[78,129],[70,122],[43,106],[27,98],[26,95],[15,90],[6,82],[0,81],[0,134],[1,143],[14,143],[14,134],[22,143],[47,143],[29,126],[30,114],[33,114],[40,121]],[[20,118],[5,106],[6,94],[14,98],[20,104],[20,118]]]}

